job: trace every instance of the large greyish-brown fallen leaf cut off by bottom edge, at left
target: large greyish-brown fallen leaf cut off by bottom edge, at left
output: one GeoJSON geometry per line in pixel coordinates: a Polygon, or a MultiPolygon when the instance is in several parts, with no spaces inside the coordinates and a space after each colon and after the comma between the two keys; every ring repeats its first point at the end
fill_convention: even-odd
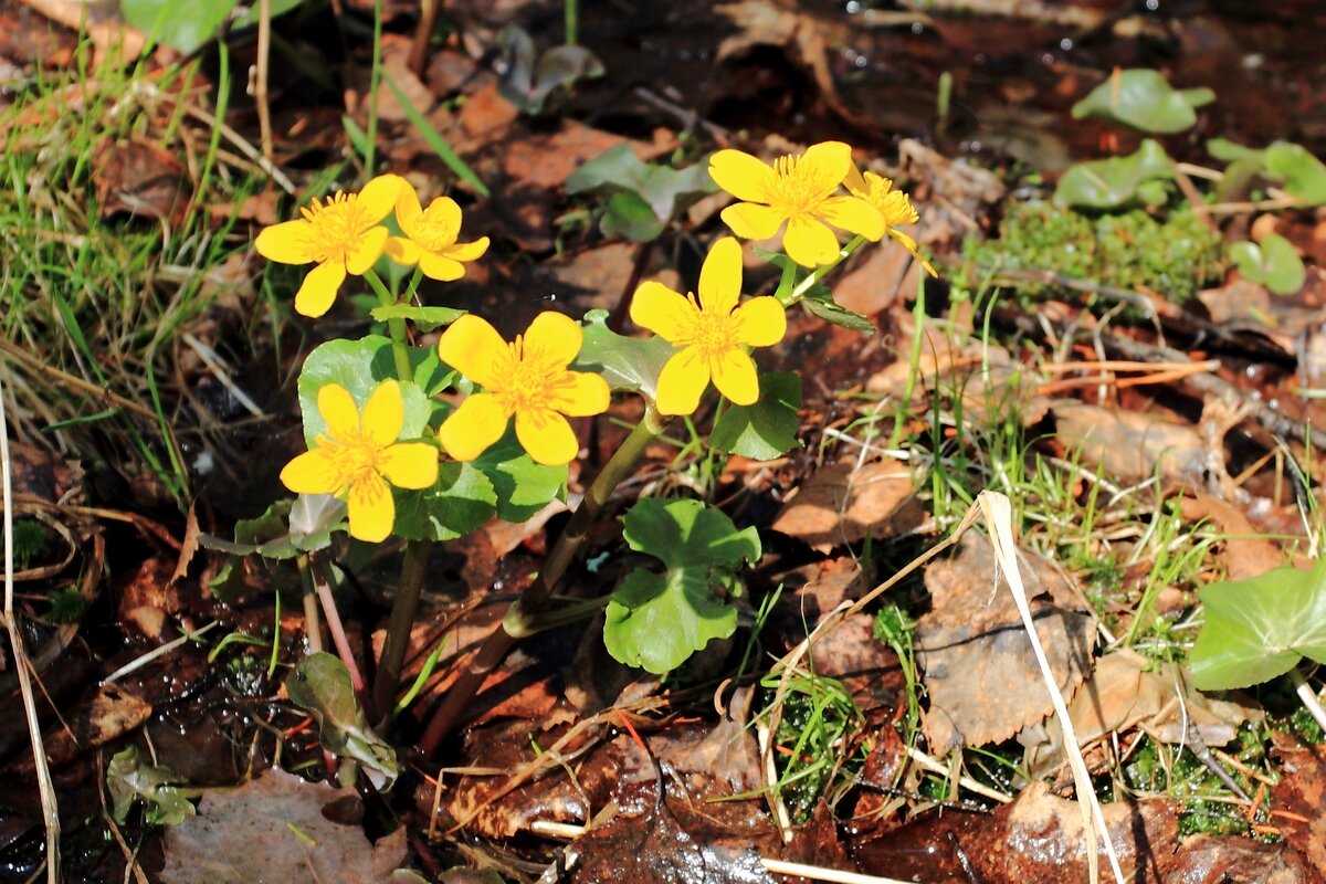
{"type": "Polygon", "coordinates": [[[404,860],[406,830],[370,844],[359,827],[324,815],[347,795],[273,769],[203,795],[198,815],[166,830],[164,884],[387,881],[404,860]]]}

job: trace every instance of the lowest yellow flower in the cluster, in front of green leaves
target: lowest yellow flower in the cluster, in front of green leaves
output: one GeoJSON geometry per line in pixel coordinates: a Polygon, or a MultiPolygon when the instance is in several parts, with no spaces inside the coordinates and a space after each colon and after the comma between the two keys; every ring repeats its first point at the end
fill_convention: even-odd
{"type": "Polygon", "coordinates": [[[428,443],[398,443],[404,425],[400,384],[385,380],[369,396],[363,414],[338,384],[318,390],[318,414],[326,433],[317,445],[281,470],[296,494],[335,494],[350,512],[350,535],[378,542],[391,533],[396,506],[391,485],[428,488],[438,481],[438,449],[428,443]]]}

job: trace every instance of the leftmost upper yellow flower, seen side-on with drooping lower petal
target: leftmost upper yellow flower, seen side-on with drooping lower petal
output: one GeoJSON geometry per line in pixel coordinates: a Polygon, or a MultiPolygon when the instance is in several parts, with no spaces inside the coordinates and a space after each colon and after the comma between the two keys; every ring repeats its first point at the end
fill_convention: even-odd
{"type": "Polygon", "coordinates": [[[379,175],[358,193],[339,192],[325,203],[314,199],[300,209],[304,217],[257,235],[253,245],[269,261],[317,262],[294,296],[298,313],[322,315],[347,273],[362,276],[373,266],[387,241],[382,219],[391,213],[404,183],[399,175],[379,175]]]}

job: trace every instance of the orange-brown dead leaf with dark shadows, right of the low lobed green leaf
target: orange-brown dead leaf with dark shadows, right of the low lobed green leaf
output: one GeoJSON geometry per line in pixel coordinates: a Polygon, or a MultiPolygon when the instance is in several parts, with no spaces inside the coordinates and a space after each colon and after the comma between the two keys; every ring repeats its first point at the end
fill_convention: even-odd
{"type": "Polygon", "coordinates": [[[915,530],[926,520],[911,473],[895,461],[826,464],[806,480],[773,530],[805,541],[821,553],[915,530]]]}

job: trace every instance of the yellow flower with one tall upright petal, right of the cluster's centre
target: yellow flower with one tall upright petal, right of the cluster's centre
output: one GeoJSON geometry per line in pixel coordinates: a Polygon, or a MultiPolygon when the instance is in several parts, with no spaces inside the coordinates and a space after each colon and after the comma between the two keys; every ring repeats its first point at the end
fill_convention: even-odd
{"type": "Polygon", "coordinates": [[[700,294],[682,297],[662,282],[644,282],[631,300],[631,319],[682,347],[659,375],[656,407],[663,415],[690,415],[713,386],[739,406],[760,398],[754,362],[745,347],[782,341],[788,317],[777,298],[741,297],[741,247],[723,237],[700,268],[700,294]]]}

